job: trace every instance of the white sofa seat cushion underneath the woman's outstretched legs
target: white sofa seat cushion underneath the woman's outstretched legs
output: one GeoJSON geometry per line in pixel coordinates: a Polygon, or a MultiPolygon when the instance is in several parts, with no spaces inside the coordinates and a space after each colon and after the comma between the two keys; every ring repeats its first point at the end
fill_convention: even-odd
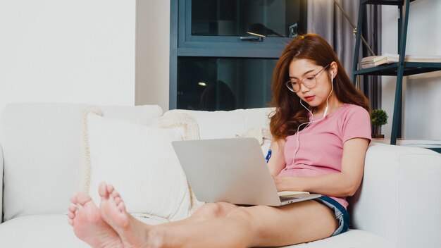
{"type": "MultiPolygon", "coordinates": [[[[136,217],[136,216],[135,216],[136,217]]],[[[154,218],[139,218],[139,221],[156,225],[163,221],[154,218]]],[[[68,225],[68,217],[62,214],[23,216],[0,224],[1,247],[89,247],[78,239],[68,225]]],[[[394,248],[395,246],[383,237],[364,232],[349,230],[346,233],[324,240],[306,244],[290,245],[292,248],[394,248]]]]}

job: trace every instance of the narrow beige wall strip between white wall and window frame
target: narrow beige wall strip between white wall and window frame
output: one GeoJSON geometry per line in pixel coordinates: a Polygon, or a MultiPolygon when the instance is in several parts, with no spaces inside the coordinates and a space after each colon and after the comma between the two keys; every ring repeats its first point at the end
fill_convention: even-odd
{"type": "Polygon", "coordinates": [[[170,1],[137,1],[135,103],[168,109],[170,1]]]}

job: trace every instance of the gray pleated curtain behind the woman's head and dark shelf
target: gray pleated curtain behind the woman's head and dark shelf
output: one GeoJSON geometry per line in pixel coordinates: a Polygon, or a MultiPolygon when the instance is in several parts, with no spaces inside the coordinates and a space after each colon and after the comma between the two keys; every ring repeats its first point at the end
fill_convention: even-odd
{"type": "MultiPolygon", "coordinates": [[[[359,1],[337,0],[349,16],[354,25],[357,25],[359,15],[359,1]]],[[[364,27],[362,34],[375,55],[381,54],[381,6],[366,5],[364,12],[364,27]]],[[[313,32],[328,40],[333,46],[337,56],[342,61],[344,70],[352,77],[352,64],[354,63],[355,36],[354,28],[344,17],[334,0],[309,0],[308,1],[308,32],[313,32]]],[[[371,56],[366,46],[360,45],[360,58],[371,56]]],[[[364,92],[371,109],[381,107],[381,77],[364,76],[354,82],[361,92],[364,92]]]]}

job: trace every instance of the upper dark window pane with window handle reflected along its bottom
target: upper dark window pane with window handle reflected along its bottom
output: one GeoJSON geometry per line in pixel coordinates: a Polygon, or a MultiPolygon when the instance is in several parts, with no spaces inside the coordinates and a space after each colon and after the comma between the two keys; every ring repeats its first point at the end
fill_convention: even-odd
{"type": "Polygon", "coordinates": [[[295,37],[305,32],[304,0],[192,0],[192,35],[295,37]]]}

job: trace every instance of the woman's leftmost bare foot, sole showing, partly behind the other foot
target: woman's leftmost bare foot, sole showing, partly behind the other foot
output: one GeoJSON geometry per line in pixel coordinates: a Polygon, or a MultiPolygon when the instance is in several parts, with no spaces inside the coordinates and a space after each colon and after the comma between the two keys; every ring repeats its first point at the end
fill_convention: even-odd
{"type": "Polygon", "coordinates": [[[79,192],[70,198],[68,223],[80,240],[92,247],[121,247],[118,233],[101,219],[99,209],[88,194],[79,192]]]}

